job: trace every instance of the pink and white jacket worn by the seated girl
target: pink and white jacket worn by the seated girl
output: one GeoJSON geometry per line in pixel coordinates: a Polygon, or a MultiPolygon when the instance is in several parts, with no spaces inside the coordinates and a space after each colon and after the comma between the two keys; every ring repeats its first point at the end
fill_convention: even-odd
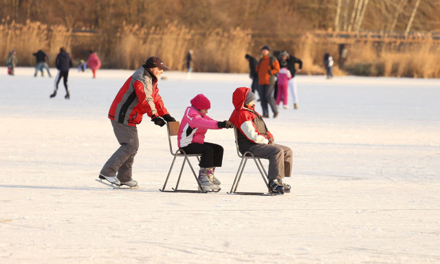
{"type": "Polygon", "coordinates": [[[187,107],[184,118],[181,119],[179,126],[179,135],[177,135],[177,144],[179,148],[188,146],[191,143],[203,144],[205,134],[208,129],[220,129],[217,121],[208,115],[201,115],[195,107],[187,107]]]}

